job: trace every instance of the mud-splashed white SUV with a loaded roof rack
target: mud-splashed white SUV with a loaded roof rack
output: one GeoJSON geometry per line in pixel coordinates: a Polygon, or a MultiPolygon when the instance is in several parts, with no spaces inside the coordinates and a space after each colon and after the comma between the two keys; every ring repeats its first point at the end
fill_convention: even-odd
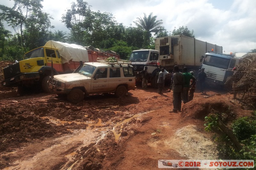
{"type": "Polygon", "coordinates": [[[87,94],[115,93],[125,96],[128,90],[135,89],[135,76],[132,65],[126,60],[81,64],[73,73],[51,77],[49,88],[58,95],[67,95],[68,101],[79,103],[87,94]]]}

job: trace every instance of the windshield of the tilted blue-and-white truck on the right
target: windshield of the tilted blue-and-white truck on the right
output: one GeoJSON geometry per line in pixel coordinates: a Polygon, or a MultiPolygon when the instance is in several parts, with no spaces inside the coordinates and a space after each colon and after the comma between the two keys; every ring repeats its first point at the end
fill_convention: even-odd
{"type": "Polygon", "coordinates": [[[214,55],[206,55],[204,57],[203,64],[218,67],[221,69],[228,69],[228,65],[230,63],[230,59],[228,58],[221,58],[214,55]]]}

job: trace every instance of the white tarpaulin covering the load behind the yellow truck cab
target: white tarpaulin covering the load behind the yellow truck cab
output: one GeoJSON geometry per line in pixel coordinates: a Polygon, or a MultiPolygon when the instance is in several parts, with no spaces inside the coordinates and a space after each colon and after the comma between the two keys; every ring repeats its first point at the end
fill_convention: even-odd
{"type": "Polygon", "coordinates": [[[68,63],[68,61],[79,62],[89,62],[87,49],[83,46],[76,44],[68,44],[59,41],[47,41],[44,46],[58,48],[62,63],[68,63]]]}

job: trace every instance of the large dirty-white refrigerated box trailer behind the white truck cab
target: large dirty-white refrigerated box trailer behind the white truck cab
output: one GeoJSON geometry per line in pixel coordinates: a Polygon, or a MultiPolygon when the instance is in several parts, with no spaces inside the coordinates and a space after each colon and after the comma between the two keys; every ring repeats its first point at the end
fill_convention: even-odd
{"type": "Polygon", "coordinates": [[[160,65],[169,69],[174,65],[197,69],[201,66],[201,56],[208,51],[213,49],[215,52],[222,53],[221,46],[184,35],[157,38],[155,49],[160,52],[160,65]]]}

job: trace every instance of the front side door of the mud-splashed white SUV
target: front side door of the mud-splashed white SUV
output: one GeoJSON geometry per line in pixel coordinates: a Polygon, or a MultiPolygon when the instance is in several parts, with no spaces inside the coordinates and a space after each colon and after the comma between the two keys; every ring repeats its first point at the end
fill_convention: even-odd
{"type": "Polygon", "coordinates": [[[108,91],[108,68],[98,68],[92,78],[92,93],[108,91]]]}

